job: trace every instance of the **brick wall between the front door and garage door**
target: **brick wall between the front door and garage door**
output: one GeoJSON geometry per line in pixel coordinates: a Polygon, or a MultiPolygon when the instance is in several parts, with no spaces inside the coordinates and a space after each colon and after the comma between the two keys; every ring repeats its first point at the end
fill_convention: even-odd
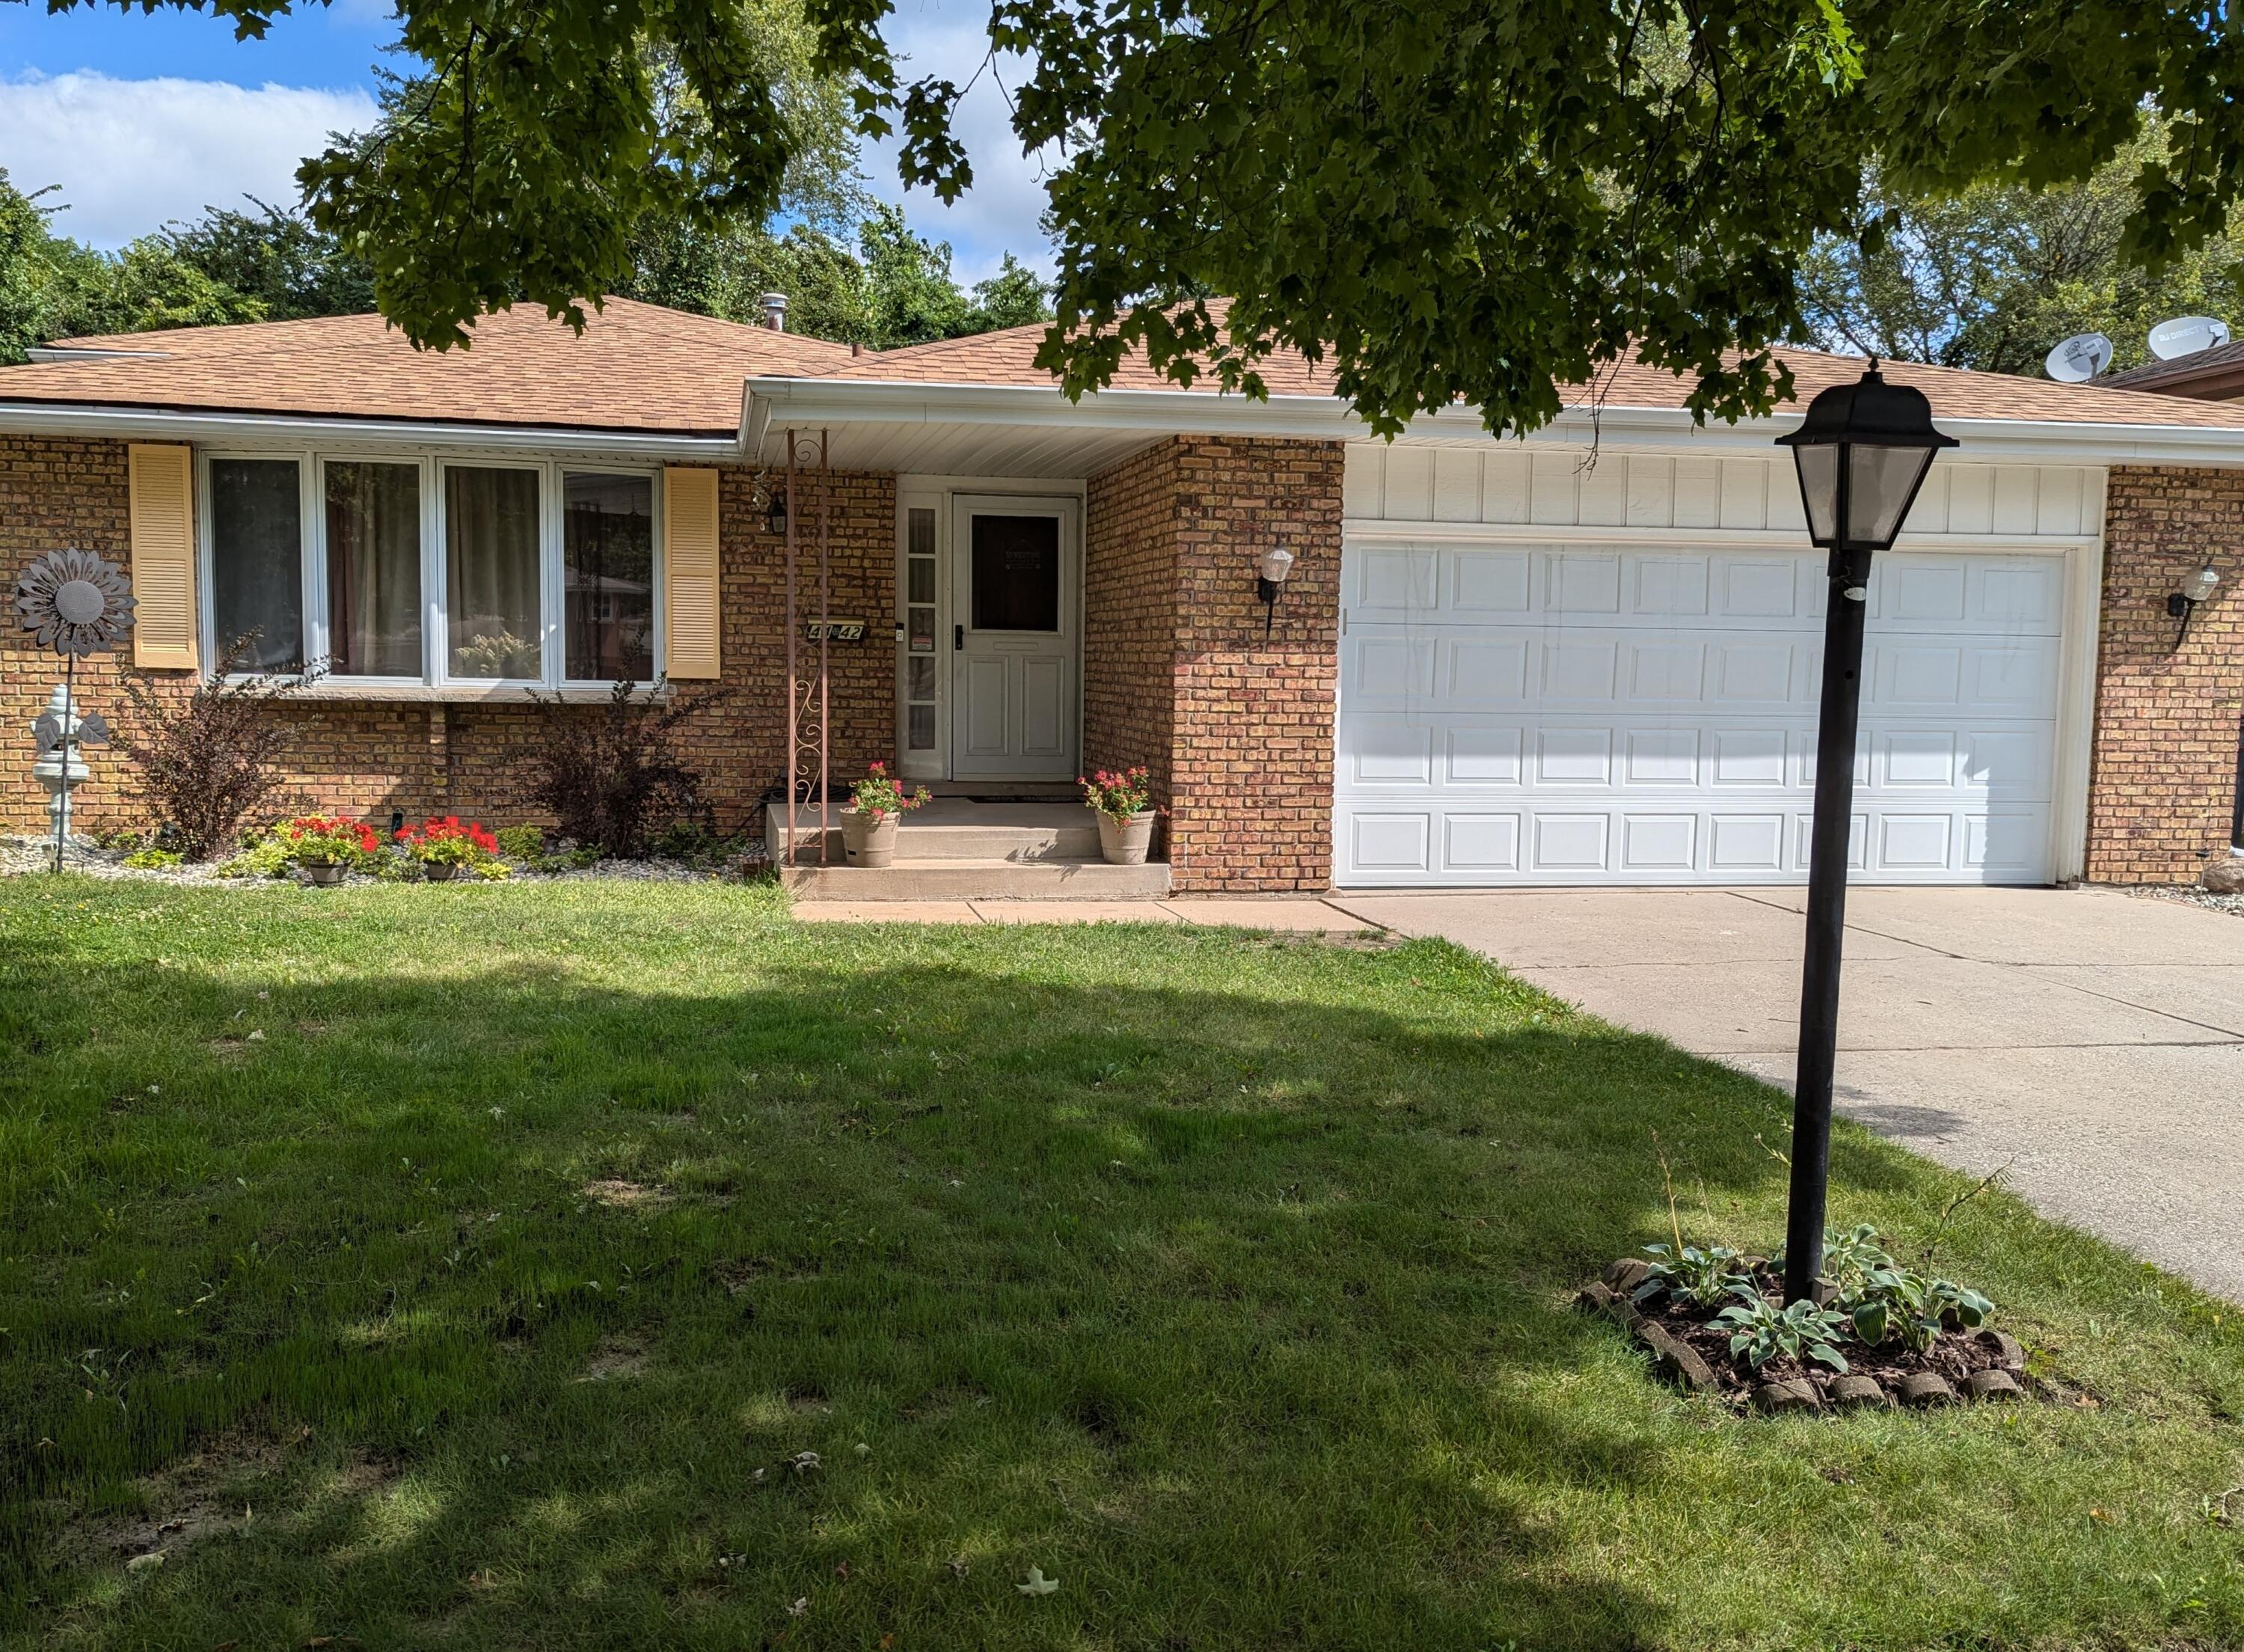
{"type": "Polygon", "coordinates": [[[1153,770],[1178,889],[1333,882],[1340,478],[1340,442],[1198,435],[1091,478],[1088,631],[1126,635],[1086,644],[1086,761],[1153,770]],[[1266,637],[1254,557],[1279,541],[1266,637]]]}

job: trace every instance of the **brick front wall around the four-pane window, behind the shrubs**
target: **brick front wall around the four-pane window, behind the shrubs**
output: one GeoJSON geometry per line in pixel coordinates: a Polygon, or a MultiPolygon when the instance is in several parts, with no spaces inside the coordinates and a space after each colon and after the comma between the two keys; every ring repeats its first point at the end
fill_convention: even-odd
{"type": "MultiPolygon", "coordinates": [[[[833,478],[833,613],[866,620],[864,642],[833,644],[833,772],[848,779],[895,745],[895,485],[886,476],[833,478]]],[[[727,691],[689,721],[680,747],[707,779],[725,830],[747,826],[756,801],[783,768],[785,552],[752,510],[754,474],[727,469],[720,487],[723,651],[727,691]]],[[[803,530],[815,530],[806,510],[803,530]]],[[[126,449],[121,442],[0,438],[0,568],[9,581],[34,554],[58,545],[128,554],[126,449]]],[[[808,550],[808,548],[806,548],[808,550]]],[[[801,593],[815,613],[815,575],[801,593]]],[[[29,723],[61,682],[61,660],[18,644],[13,611],[0,631],[0,830],[47,826],[45,790],[31,781],[29,723]]],[[[81,664],[81,700],[130,729],[119,685],[130,655],[81,664]]],[[[808,664],[808,655],[806,655],[808,664]]],[[[184,671],[150,680],[186,694],[184,671]]],[[[702,694],[702,687],[680,685],[702,694]]],[[[586,716],[595,716],[588,707],[586,716]]],[[[536,714],[525,705],[426,705],[397,700],[296,700],[283,716],[292,729],[292,806],[316,806],[384,824],[462,813],[482,819],[534,819],[521,799],[523,747],[536,714]]],[[[130,795],[130,765],[117,752],[88,752],[92,781],[72,795],[83,830],[153,826],[130,795]]]]}

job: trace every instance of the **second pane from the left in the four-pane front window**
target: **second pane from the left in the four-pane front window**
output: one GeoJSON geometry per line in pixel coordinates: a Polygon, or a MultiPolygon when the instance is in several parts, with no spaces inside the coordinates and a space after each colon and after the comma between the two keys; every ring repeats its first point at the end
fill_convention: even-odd
{"type": "Polygon", "coordinates": [[[420,467],[328,471],[328,651],[339,676],[417,678],[420,467]]]}

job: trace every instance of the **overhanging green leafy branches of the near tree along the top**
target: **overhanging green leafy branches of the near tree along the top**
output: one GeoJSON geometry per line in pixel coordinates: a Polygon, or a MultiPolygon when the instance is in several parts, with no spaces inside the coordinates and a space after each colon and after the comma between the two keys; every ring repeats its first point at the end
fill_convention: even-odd
{"type": "MultiPolygon", "coordinates": [[[[263,34],[296,0],[171,2],[263,34]]],[[[969,186],[963,90],[904,79],[891,0],[808,9],[812,67],[850,88],[859,130],[902,132],[907,182],[969,186]]],[[[2201,0],[990,11],[992,49],[1030,63],[1014,135],[1057,157],[1043,361],[1064,384],[1142,346],[1178,379],[1257,391],[1257,361],[1290,346],[1382,431],[1459,397],[1537,424],[1553,379],[1629,348],[1696,375],[1701,413],[1766,409],[1788,391],[1766,346],[1804,328],[1802,263],[1856,233],[1871,164],[1912,202],[2080,182],[2159,108],[2172,144],[2123,251],[2163,267],[2224,231],[2244,180],[2240,27],[2201,0]]],[[[399,43],[429,65],[413,117],[303,182],[415,341],[462,341],[512,301],[581,319],[633,276],[644,220],[714,229],[783,200],[801,139],[741,7],[399,0],[399,43]],[[662,121],[660,63],[700,119],[662,121]]]]}

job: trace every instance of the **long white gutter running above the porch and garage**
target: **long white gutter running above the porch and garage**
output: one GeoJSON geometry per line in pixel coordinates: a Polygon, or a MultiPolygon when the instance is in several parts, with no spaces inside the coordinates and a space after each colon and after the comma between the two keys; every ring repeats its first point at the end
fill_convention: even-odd
{"type": "MultiPolygon", "coordinates": [[[[900,379],[779,379],[747,382],[749,413],[743,444],[761,449],[772,424],[1039,424],[1077,431],[1162,431],[1189,435],[1272,435],[1308,440],[1373,440],[1346,402],[1331,395],[1243,395],[1207,391],[1097,391],[1068,402],[1057,388],[996,384],[922,384],[900,379]]],[[[2244,424],[2132,424],[2062,420],[1941,417],[1964,438],[1972,458],[2064,465],[2235,465],[2244,467],[2244,424]]],[[[1524,440],[1528,447],[1587,447],[1611,451],[1766,453],[1771,440],[1800,424],[1779,413],[1741,424],[1694,424],[1683,409],[1607,406],[1566,409],[1526,438],[1495,438],[1470,409],[1420,413],[1396,438],[1405,447],[1490,447],[1524,440]]]]}

